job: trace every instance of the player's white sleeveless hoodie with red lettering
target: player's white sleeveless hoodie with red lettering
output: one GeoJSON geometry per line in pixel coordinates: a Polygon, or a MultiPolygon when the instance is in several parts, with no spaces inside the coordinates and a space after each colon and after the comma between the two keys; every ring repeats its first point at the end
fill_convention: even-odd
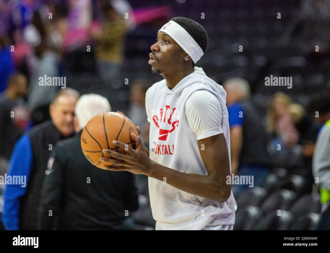
{"type": "MultiPolygon", "coordinates": [[[[146,110],[150,122],[151,160],[182,173],[207,175],[199,153],[197,137],[190,129],[185,114],[187,99],[194,91],[201,89],[212,92],[220,102],[221,127],[227,142],[230,161],[226,92],[222,86],[207,77],[200,67],[195,67],[194,72],[184,77],[172,90],[168,89],[165,79],[147,90],[146,110]]],[[[226,202],[220,203],[187,193],[149,177],[149,196],[152,216],[158,223],[177,223],[180,227],[180,223],[213,215],[220,217],[220,223],[218,222],[217,225],[235,223],[237,204],[233,192],[226,202]]]]}

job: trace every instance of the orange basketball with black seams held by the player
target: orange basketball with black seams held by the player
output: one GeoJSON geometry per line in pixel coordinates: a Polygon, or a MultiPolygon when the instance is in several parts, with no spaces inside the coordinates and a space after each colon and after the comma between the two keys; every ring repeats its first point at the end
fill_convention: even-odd
{"type": "Polygon", "coordinates": [[[102,157],[111,158],[109,154],[102,152],[103,149],[127,153],[125,149],[115,146],[113,140],[126,143],[135,149],[131,133],[138,135],[135,125],[128,117],[114,112],[98,114],[88,121],[82,131],[82,152],[91,164],[103,169],[106,165],[112,165],[100,161],[102,157]]]}

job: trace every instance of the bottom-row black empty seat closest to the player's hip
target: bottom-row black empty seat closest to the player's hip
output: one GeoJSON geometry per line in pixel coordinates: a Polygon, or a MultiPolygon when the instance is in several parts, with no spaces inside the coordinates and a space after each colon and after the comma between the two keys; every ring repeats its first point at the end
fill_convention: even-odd
{"type": "Polygon", "coordinates": [[[238,207],[235,214],[234,230],[254,230],[262,219],[262,212],[255,206],[238,207]]]}

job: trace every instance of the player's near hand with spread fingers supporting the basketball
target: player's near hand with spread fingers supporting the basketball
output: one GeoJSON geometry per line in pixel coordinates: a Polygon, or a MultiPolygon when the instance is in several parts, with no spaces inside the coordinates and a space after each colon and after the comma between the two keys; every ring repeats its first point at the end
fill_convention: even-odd
{"type": "Polygon", "coordinates": [[[136,149],[120,141],[114,140],[112,143],[117,147],[126,150],[127,154],[120,154],[115,150],[103,149],[103,153],[110,154],[112,158],[101,158],[101,162],[111,163],[111,166],[104,166],[104,169],[120,171],[126,170],[134,174],[143,174],[149,176],[152,169],[153,161],[150,160],[146,153],[146,147],[140,137],[131,133],[132,139],[135,141],[136,149]]]}

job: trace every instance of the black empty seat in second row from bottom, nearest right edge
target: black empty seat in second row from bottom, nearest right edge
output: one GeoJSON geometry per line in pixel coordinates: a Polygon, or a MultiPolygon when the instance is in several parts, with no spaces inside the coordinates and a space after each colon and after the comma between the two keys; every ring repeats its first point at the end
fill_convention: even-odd
{"type": "Polygon", "coordinates": [[[298,218],[301,215],[306,213],[317,213],[321,212],[321,203],[319,195],[314,196],[312,194],[306,194],[301,196],[297,201],[292,205],[290,212],[298,218]]]}

